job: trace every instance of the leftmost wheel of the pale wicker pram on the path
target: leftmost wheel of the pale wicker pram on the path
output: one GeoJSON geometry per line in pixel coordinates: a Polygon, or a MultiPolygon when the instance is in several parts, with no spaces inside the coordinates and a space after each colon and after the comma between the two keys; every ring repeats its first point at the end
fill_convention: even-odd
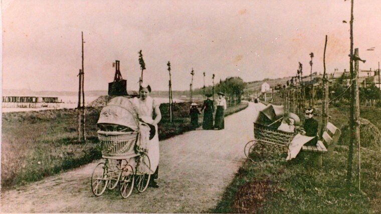
{"type": "Polygon", "coordinates": [[[106,190],[107,179],[107,167],[105,163],[98,163],[91,175],[91,190],[96,196],[103,194],[106,190]]]}

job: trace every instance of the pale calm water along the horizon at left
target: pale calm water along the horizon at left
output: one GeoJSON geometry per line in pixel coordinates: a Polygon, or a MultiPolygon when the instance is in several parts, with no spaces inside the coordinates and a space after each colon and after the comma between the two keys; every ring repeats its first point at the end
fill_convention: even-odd
{"type": "MultiPolygon", "coordinates": [[[[2,112],[16,112],[16,111],[39,111],[39,110],[47,110],[47,109],[61,109],[61,108],[76,108],[78,106],[78,96],[57,96],[58,100],[62,103],[59,103],[56,108],[2,108],[2,112]]],[[[99,96],[85,96],[85,105],[88,105],[90,102],[97,99],[99,96]]],[[[164,97],[154,97],[160,103],[167,103],[168,98],[164,97]]],[[[173,99],[174,102],[183,102],[181,99],[173,99]]]]}

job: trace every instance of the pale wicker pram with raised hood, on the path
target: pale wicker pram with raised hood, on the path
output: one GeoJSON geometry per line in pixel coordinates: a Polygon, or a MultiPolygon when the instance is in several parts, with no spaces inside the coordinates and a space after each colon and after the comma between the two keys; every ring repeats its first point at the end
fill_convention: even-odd
{"type": "Polygon", "coordinates": [[[97,125],[103,160],[91,177],[93,193],[99,196],[106,188],[113,189],[118,184],[124,198],[134,186],[139,192],[145,191],[150,179],[150,161],[140,139],[146,124],[139,122],[132,100],[124,96],[112,98],[102,108],[97,125]]]}

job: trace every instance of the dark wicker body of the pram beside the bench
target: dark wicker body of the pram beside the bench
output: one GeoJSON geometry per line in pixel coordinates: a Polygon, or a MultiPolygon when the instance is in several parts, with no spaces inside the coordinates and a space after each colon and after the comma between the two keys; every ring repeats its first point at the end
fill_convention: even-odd
{"type": "Polygon", "coordinates": [[[254,122],[254,139],[258,141],[287,146],[294,135],[294,133],[280,131],[254,122]]]}

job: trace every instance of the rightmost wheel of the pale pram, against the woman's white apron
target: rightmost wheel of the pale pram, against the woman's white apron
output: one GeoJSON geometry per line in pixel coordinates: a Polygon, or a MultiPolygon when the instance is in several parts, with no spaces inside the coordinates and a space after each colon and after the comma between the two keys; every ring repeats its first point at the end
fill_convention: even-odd
{"type": "Polygon", "coordinates": [[[142,154],[139,156],[136,164],[136,188],[139,192],[145,191],[147,189],[149,178],[151,174],[149,173],[151,168],[151,162],[147,154],[142,154]]]}

